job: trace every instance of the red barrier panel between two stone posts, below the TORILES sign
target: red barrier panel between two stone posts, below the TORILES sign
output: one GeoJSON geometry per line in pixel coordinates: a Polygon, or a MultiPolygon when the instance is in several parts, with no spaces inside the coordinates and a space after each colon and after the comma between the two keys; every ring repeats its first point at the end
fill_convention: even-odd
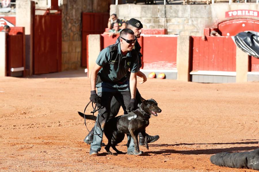
{"type": "Polygon", "coordinates": [[[193,38],[193,71],[236,71],[236,45],[231,37],[193,38]]]}

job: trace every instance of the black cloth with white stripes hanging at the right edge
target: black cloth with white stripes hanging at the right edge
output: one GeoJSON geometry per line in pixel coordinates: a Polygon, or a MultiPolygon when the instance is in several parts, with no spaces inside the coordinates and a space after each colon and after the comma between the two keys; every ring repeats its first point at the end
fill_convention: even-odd
{"type": "Polygon", "coordinates": [[[250,56],[259,58],[259,32],[245,31],[232,36],[235,44],[250,56]]]}

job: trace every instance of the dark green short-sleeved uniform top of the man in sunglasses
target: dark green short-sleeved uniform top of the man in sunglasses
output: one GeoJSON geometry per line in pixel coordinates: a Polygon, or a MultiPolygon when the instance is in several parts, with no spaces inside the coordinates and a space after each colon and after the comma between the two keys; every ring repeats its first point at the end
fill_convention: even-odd
{"type": "MultiPolygon", "coordinates": [[[[124,56],[121,53],[120,43],[104,48],[96,59],[96,64],[102,66],[98,72],[101,81],[97,81],[99,92],[103,91],[129,91],[127,72],[138,72],[138,54],[129,51],[124,56]]],[[[98,79],[97,79],[98,80],[98,79]]]]}

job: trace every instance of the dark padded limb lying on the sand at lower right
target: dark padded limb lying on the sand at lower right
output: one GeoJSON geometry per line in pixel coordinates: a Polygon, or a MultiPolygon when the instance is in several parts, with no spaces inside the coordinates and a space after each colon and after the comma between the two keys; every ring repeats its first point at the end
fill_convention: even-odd
{"type": "Polygon", "coordinates": [[[212,164],[231,168],[259,170],[259,148],[249,152],[221,152],[210,157],[212,164]]]}

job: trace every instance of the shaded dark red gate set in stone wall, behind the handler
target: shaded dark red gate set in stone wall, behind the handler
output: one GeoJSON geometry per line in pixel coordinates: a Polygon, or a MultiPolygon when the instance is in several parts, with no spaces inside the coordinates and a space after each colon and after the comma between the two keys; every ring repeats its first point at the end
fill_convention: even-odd
{"type": "Polygon", "coordinates": [[[102,34],[109,17],[109,13],[82,13],[82,67],[87,67],[87,35],[102,34]]]}

